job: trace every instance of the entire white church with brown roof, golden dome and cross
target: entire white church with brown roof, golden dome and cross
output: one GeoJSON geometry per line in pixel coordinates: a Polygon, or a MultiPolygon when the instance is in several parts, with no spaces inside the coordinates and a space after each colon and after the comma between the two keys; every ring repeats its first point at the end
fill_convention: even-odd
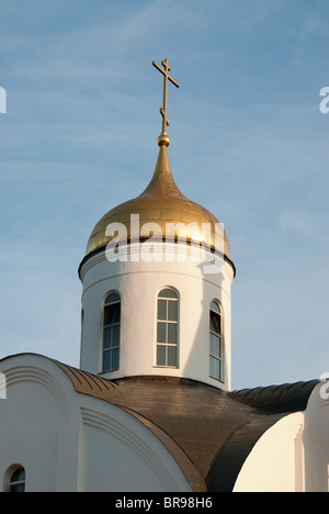
{"type": "MultiPolygon", "coordinates": [[[[318,380],[231,390],[227,234],[178,188],[162,131],[149,185],[95,224],[79,266],[80,368],[0,361],[2,492],[328,492],[318,380]]],[[[325,393],[324,393],[325,392],[325,393]]]]}

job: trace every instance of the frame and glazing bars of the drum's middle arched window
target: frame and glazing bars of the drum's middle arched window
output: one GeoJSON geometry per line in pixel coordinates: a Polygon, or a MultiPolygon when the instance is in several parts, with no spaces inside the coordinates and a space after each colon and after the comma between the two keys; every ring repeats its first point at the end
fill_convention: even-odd
{"type": "Polygon", "coordinates": [[[179,292],[171,286],[166,286],[161,288],[157,294],[156,299],[156,351],[155,351],[155,367],[156,368],[166,368],[166,369],[179,369],[180,368],[180,353],[179,353],[179,327],[180,327],[180,295],[179,292]],[[161,295],[164,291],[171,291],[172,297],[161,295]],[[159,315],[159,301],[164,301],[166,303],[166,319],[161,319],[159,315]],[[175,303],[175,320],[170,320],[169,317],[169,304],[170,302],[175,303]],[[159,342],[159,325],[164,325],[166,342],[159,342]],[[169,326],[175,326],[175,343],[169,343],[169,326]],[[159,364],[158,350],[159,348],[164,348],[164,364],[159,364]],[[169,348],[175,349],[175,364],[169,364],[169,348]]]}

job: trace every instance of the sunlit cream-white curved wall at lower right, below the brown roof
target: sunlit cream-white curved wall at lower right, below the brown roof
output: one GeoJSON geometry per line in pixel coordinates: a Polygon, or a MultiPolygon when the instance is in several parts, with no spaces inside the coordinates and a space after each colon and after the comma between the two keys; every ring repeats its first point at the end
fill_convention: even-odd
{"type": "Polygon", "coordinates": [[[235,492],[329,492],[327,390],[328,383],[320,382],[304,412],[282,418],[259,439],[235,492]]]}

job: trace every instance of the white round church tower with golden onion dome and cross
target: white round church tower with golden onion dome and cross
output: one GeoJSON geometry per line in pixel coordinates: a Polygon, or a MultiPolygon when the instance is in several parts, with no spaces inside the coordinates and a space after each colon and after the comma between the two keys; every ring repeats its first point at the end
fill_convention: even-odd
{"type": "Polygon", "coordinates": [[[82,370],[115,380],[166,376],[231,384],[231,283],[226,233],[182,194],[171,174],[164,76],[159,156],[149,186],[107,212],[79,275],[82,370]]]}

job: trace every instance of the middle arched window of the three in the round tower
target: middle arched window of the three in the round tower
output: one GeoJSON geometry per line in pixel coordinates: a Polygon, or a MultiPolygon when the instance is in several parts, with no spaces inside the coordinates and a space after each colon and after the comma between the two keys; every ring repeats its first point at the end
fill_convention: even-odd
{"type": "Polygon", "coordinates": [[[179,300],[172,289],[158,295],[157,366],[179,367],[178,358],[179,300]]]}

